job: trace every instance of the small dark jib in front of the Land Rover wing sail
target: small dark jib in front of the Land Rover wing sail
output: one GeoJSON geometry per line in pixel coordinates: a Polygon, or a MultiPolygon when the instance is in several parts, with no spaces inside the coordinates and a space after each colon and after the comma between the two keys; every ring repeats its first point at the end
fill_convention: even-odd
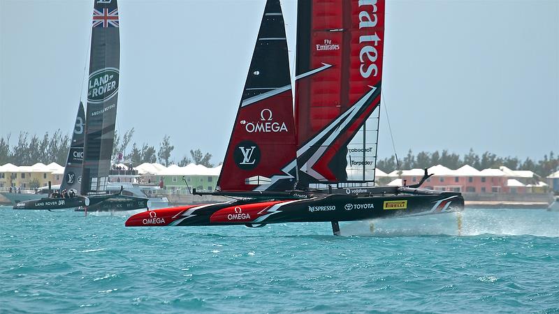
{"type": "Polygon", "coordinates": [[[75,125],[72,133],[72,142],[66,168],[64,169],[64,179],[60,184],[60,190],[75,190],[80,192],[82,185],[82,165],[83,165],[83,143],[85,138],[85,112],[80,101],[78,115],[75,117],[75,125]]]}

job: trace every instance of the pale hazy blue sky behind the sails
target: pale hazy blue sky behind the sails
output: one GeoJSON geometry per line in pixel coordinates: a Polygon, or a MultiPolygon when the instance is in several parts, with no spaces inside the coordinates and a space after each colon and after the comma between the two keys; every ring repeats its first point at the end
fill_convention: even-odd
{"type": "MultiPolygon", "coordinates": [[[[264,0],[119,0],[117,130],[222,161],[264,0]]],[[[70,133],[91,0],[0,0],[0,136],[70,133]]],[[[282,1],[291,63],[296,1],[282,1]]],[[[387,0],[382,94],[395,149],[559,153],[559,1],[387,0]]],[[[292,67],[293,68],[293,67],[292,67]]],[[[12,142],[12,144],[14,144],[12,142]]],[[[393,154],[381,112],[379,157],[393,154]]]]}

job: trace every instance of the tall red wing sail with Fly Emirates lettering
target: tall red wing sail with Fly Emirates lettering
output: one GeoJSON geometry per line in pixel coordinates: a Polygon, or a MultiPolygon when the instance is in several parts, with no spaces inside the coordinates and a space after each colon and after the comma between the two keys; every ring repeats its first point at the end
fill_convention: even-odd
{"type": "Polygon", "coordinates": [[[384,0],[300,0],[300,186],[347,181],[347,144],[380,103],[384,0]]]}

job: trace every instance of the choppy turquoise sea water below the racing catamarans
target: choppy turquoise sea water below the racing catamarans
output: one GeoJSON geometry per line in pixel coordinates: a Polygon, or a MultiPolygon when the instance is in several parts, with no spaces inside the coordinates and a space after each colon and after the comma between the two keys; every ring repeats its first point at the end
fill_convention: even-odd
{"type": "Polygon", "coordinates": [[[559,213],[125,228],[0,207],[0,312],[559,313],[559,213]],[[460,225],[460,228],[458,228],[460,225]]]}

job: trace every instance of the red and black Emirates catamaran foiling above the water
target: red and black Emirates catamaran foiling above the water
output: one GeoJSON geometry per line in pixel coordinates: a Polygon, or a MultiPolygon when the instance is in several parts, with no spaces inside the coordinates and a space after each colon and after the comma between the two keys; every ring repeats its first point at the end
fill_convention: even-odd
{"type": "Polygon", "coordinates": [[[375,187],[384,0],[298,1],[295,106],[284,19],[268,0],[217,190],[238,200],[131,216],[126,226],[331,222],[435,214],[460,193],[375,187]]]}

